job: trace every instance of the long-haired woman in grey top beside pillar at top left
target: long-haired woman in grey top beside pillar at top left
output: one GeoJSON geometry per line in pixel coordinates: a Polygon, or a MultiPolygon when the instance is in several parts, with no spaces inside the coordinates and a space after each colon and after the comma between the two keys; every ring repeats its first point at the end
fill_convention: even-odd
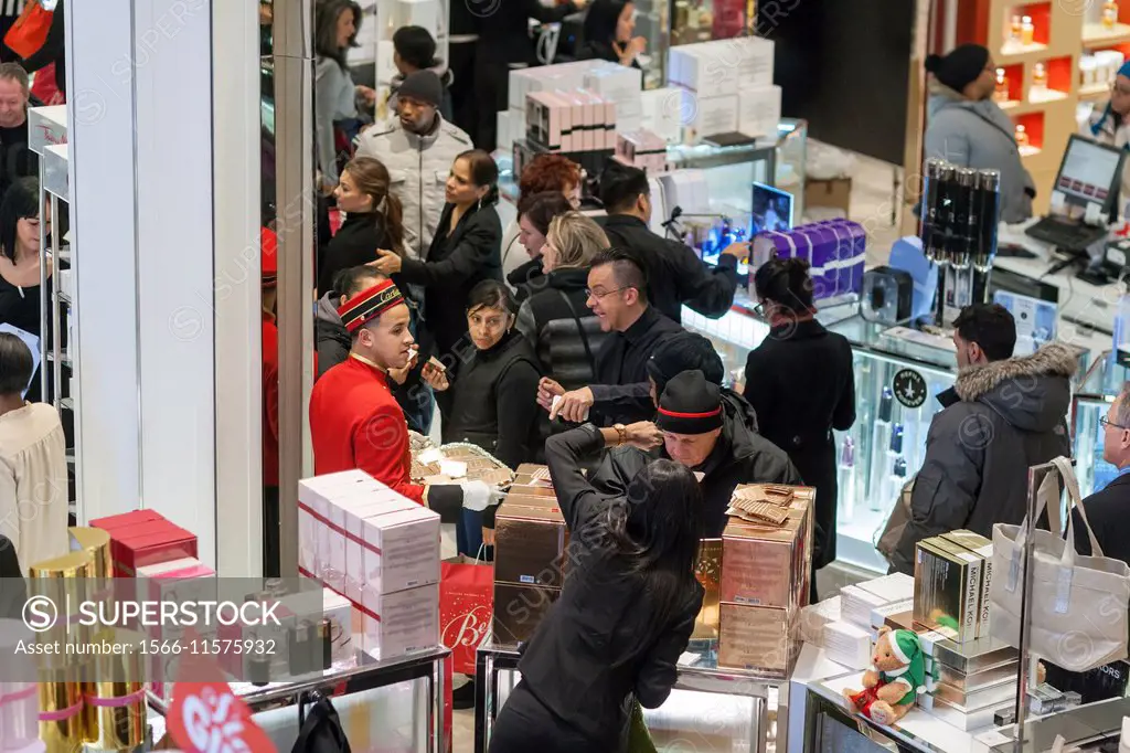
{"type": "Polygon", "coordinates": [[[321,188],[329,193],[338,184],[338,149],[334,123],[357,118],[357,99],[372,106],[376,92],[354,84],[346,54],[357,45],[362,10],[353,0],[319,0],[314,18],[314,136],[321,188]]]}

